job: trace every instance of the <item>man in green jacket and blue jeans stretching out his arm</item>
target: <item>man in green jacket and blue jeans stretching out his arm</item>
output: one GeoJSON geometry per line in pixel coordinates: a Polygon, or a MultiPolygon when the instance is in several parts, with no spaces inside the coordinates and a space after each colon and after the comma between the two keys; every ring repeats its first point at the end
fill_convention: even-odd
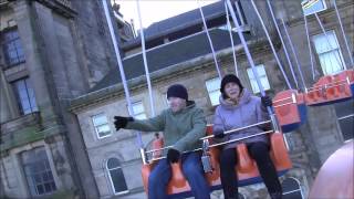
{"type": "MultiPolygon", "coordinates": [[[[181,161],[183,172],[196,199],[209,199],[209,186],[205,179],[200,163],[200,153],[183,154],[200,147],[199,138],[206,133],[206,118],[204,112],[196,107],[195,102],[188,101],[185,86],[175,84],[167,90],[169,108],[160,115],[137,121],[133,117],[115,116],[115,127],[136,129],[142,132],[164,132],[164,143],[171,146],[167,158],[162,159],[154,167],[148,178],[148,198],[167,198],[166,187],[171,177],[170,164],[181,161]]],[[[165,153],[166,154],[166,153],[165,153]]]]}

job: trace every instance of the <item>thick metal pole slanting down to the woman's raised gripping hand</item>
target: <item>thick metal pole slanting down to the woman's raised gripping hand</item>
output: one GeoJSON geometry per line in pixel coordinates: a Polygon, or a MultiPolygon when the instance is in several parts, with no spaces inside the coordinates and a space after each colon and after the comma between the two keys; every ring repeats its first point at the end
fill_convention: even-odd
{"type": "MultiPolygon", "coordinates": [[[[253,76],[254,76],[256,82],[257,82],[257,84],[258,84],[258,87],[259,87],[259,90],[260,90],[260,92],[261,92],[261,95],[262,95],[262,96],[266,96],[266,92],[264,92],[264,90],[263,90],[263,86],[262,86],[261,81],[259,80],[258,72],[257,72],[257,70],[256,70],[256,65],[254,65],[252,55],[251,55],[251,53],[250,53],[250,51],[249,51],[249,49],[248,49],[248,46],[247,46],[247,42],[246,42],[246,40],[244,40],[243,34],[242,34],[242,32],[240,31],[240,24],[239,24],[239,22],[237,21],[235,11],[233,11],[233,9],[232,9],[232,4],[231,4],[230,0],[226,0],[226,1],[227,1],[227,6],[228,6],[228,8],[229,8],[229,11],[230,11],[230,13],[231,13],[231,17],[232,17],[232,21],[233,21],[233,23],[235,23],[235,27],[236,27],[236,29],[238,30],[237,33],[238,33],[238,35],[239,35],[239,38],[240,38],[240,40],[241,40],[242,45],[243,45],[244,53],[246,53],[246,55],[247,55],[247,60],[248,60],[248,62],[249,62],[250,65],[251,65],[252,73],[253,73],[253,76]]],[[[272,121],[274,130],[275,130],[275,132],[279,132],[278,122],[277,122],[277,118],[275,118],[275,116],[274,116],[274,114],[273,114],[272,108],[271,108],[270,106],[267,106],[267,111],[268,111],[268,114],[270,115],[270,118],[271,118],[271,121],[272,121]]]]}

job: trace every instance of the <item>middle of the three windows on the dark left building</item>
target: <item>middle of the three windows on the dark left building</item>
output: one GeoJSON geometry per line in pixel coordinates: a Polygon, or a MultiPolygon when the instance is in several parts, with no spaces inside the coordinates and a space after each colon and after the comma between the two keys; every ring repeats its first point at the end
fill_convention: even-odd
{"type": "Polygon", "coordinates": [[[12,87],[18,100],[21,115],[38,112],[34,91],[29,78],[22,78],[13,82],[12,87]]]}

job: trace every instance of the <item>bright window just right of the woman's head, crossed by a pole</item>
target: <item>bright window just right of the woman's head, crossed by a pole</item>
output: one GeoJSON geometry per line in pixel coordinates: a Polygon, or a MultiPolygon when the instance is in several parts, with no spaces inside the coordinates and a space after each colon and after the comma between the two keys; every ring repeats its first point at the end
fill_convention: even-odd
{"type": "MultiPolygon", "coordinates": [[[[261,84],[263,86],[263,90],[264,91],[270,90],[270,84],[269,84],[269,81],[268,81],[268,77],[267,77],[264,65],[263,64],[257,65],[256,70],[257,70],[259,80],[261,81],[261,84]]],[[[253,72],[252,72],[251,67],[247,70],[247,74],[248,74],[248,77],[250,78],[250,83],[251,83],[253,93],[260,93],[260,90],[258,87],[258,84],[257,84],[257,81],[254,78],[254,75],[253,75],[253,72]]]]}

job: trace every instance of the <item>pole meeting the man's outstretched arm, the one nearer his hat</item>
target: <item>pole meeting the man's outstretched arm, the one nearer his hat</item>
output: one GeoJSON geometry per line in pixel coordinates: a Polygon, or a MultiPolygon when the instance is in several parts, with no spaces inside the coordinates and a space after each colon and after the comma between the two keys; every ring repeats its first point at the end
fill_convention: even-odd
{"type": "Polygon", "coordinates": [[[144,31],[143,31],[143,22],[142,22],[142,15],[140,15],[139,0],[136,0],[136,8],[137,8],[137,14],[138,14],[139,28],[140,28],[139,31],[140,31],[140,38],[142,38],[142,55],[143,55],[145,75],[146,75],[146,81],[147,81],[148,96],[149,96],[149,101],[150,101],[150,109],[152,109],[152,114],[153,114],[153,117],[154,117],[155,116],[155,107],[154,107],[154,98],[153,98],[150,75],[149,75],[149,72],[148,72],[147,60],[146,60],[145,38],[144,38],[144,31]]]}

